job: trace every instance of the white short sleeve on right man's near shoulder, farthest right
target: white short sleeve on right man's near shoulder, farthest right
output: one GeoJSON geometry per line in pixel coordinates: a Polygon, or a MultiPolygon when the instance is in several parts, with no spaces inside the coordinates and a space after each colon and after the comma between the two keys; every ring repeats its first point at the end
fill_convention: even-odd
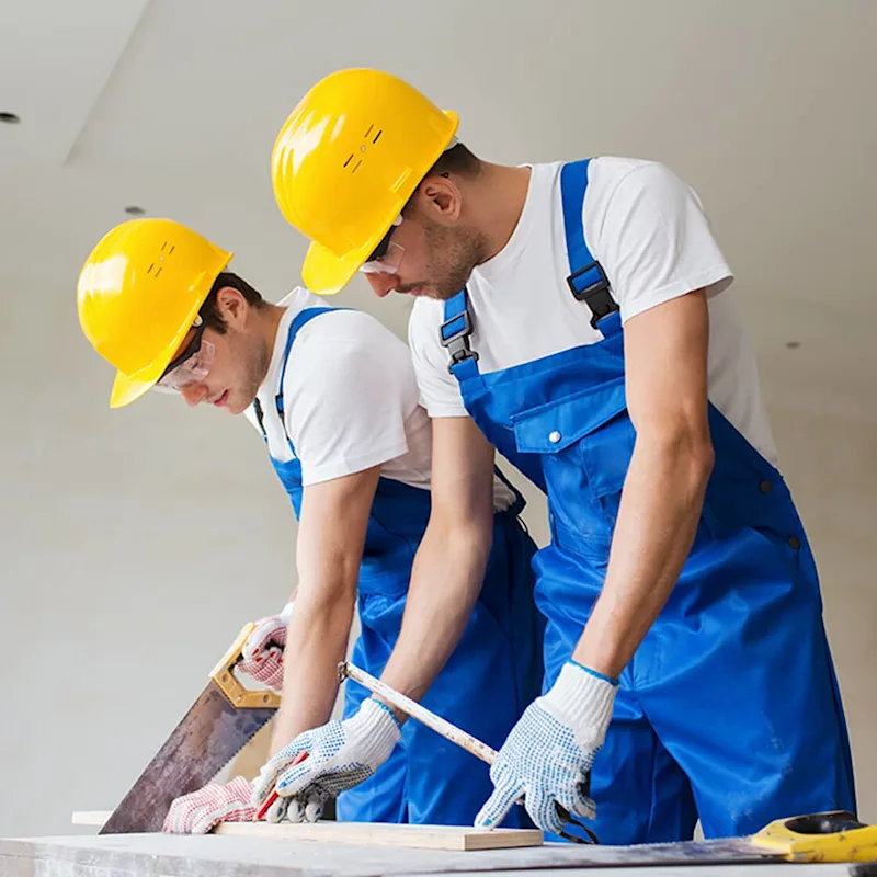
{"type": "Polygon", "coordinates": [[[589,190],[589,247],[606,272],[623,321],[695,289],[715,295],[730,285],[731,270],[699,198],[665,166],[642,162],[590,201],[589,190]]]}

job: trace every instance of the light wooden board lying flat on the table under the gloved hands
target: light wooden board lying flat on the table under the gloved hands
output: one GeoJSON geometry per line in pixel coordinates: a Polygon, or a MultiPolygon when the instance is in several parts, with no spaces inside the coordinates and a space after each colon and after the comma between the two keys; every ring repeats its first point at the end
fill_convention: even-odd
{"type": "MultiPolygon", "coordinates": [[[[73,813],[75,825],[100,828],[109,811],[73,813]]],[[[540,846],[542,832],[531,829],[474,829],[466,825],[392,825],[380,822],[220,822],[214,834],[281,841],[317,841],[351,846],[406,846],[417,850],[511,850],[540,846]]]]}

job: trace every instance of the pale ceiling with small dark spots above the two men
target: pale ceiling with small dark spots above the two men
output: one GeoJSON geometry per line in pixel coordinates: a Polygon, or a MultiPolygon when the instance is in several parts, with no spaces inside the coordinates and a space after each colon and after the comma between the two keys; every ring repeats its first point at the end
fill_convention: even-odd
{"type": "MultiPolygon", "coordinates": [[[[305,246],[273,202],[276,132],[318,78],[375,66],[482,157],[670,164],[737,273],[768,401],[877,422],[874,0],[0,0],[0,34],[21,117],[0,125],[0,314],[22,281],[72,296],[127,205],[280,298],[305,246]]],[[[357,280],[341,300],[403,334],[403,297],[357,280]]]]}

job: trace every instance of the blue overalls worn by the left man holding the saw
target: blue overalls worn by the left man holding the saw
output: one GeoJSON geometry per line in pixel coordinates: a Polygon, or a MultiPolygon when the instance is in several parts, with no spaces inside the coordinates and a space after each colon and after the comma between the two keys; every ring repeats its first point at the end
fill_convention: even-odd
{"type": "MultiPolygon", "coordinates": [[[[274,417],[284,423],[283,375],[296,334],[333,308],[306,308],[289,327],[274,417]]],[[[323,317],[331,319],[331,316],[323,317]]],[[[260,424],[265,417],[257,400],[260,424]]],[[[264,425],[262,432],[265,434],[264,425]]],[[[266,438],[266,435],[265,435],[266,438]]],[[[272,457],[300,514],[301,465],[272,457]]],[[[511,487],[511,486],[510,486],[511,487]]],[[[519,521],[524,501],[517,491],[512,509],[493,517],[493,545],[483,588],[463,639],[422,703],[429,709],[499,749],[527,704],[538,695],[543,676],[545,619],[533,599],[531,561],[536,546],[519,521]]],[[[379,676],[399,635],[411,567],[430,517],[430,491],[379,478],[366,529],[360,568],[357,608],[362,633],[352,661],[379,676]]],[[[453,576],[453,570],[448,570],[453,576]]],[[[353,715],[369,692],[348,681],[344,716],[353,715]]],[[[362,822],[471,824],[492,791],[489,768],[459,747],[418,721],[408,721],[389,760],[355,788],[342,793],[338,819],[362,822]]],[[[523,808],[504,823],[527,827],[523,808]]]]}

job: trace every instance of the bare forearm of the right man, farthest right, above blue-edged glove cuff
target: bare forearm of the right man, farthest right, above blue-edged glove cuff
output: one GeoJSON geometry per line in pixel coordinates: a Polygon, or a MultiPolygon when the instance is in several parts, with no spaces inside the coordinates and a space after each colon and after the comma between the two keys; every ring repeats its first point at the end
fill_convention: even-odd
{"type": "Polygon", "coordinates": [[[603,591],[573,659],[617,676],[667,602],[691,550],[713,465],[703,438],[637,442],[603,591]]]}

